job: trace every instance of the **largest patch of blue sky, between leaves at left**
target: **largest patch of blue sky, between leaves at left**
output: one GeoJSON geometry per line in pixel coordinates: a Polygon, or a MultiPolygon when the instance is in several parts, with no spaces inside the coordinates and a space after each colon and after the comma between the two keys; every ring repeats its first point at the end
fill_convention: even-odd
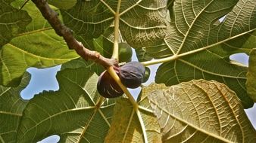
{"type": "Polygon", "coordinates": [[[28,68],[31,74],[30,84],[21,91],[22,99],[32,99],[36,93],[43,90],[58,90],[58,81],[56,79],[57,71],[61,69],[61,65],[52,68],[28,68]]]}

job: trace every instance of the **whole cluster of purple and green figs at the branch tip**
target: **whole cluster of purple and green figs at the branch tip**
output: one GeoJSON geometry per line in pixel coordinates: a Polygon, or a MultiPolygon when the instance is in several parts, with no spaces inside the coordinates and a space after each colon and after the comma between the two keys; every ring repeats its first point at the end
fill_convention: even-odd
{"type": "MultiPolygon", "coordinates": [[[[120,59],[126,59],[130,60],[131,57],[127,57],[127,55],[132,55],[131,50],[122,48],[131,48],[130,46],[120,47],[121,50],[125,52],[126,57],[123,57],[122,54],[119,53],[120,59]],[[127,54],[127,51],[130,51],[130,53],[127,54]]],[[[120,78],[121,83],[128,88],[137,88],[139,87],[143,82],[148,80],[149,77],[149,68],[142,65],[140,62],[126,62],[126,64],[117,67],[114,65],[114,71],[117,73],[118,77],[120,78]]],[[[108,73],[108,71],[103,71],[101,75],[98,78],[98,84],[97,84],[97,90],[98,93],[101,96],[104,96],[105,98],[115,98],[118,96],[123,95],[123,90],[119,87],[116,81],[111,77],[111,75],[108,73]]]]}

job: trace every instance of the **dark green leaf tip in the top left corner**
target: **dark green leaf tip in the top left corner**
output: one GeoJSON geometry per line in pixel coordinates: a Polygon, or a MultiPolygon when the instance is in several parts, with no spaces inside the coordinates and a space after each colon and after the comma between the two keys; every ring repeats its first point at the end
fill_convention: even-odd
{"type": "Polygon", "coordinates": [[[31,22],[26,11],[18,10],[10,5],[14,0],[0,0],[0,47],[11,41],[31,22]]]}

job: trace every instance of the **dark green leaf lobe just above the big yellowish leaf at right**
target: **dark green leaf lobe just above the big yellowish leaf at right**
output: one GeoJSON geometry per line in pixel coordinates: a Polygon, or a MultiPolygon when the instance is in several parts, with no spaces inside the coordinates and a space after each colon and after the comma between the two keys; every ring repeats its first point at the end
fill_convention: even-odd
{"type": "Polygon", "coordinates": [[[160,65],[155,79],[157,83],[164,83],[167,86],[191,79],[214,79],[234,90],[244,107],[250,108],[254,102],[246,93],[246,73],[247,67],[235,65],[217,53],[204,50],[196,56],[190,55],[160,65]]]}

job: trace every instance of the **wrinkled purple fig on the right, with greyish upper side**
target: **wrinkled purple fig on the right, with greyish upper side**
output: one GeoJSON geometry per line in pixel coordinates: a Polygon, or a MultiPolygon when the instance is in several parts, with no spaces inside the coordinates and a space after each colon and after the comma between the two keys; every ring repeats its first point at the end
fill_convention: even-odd
{"type": "Polygon", "coordinates": [[[137,88],[142,84],[145,67],[139,62],[127,62],[117,73],[122,84],[128,88],[137,88]]]}

